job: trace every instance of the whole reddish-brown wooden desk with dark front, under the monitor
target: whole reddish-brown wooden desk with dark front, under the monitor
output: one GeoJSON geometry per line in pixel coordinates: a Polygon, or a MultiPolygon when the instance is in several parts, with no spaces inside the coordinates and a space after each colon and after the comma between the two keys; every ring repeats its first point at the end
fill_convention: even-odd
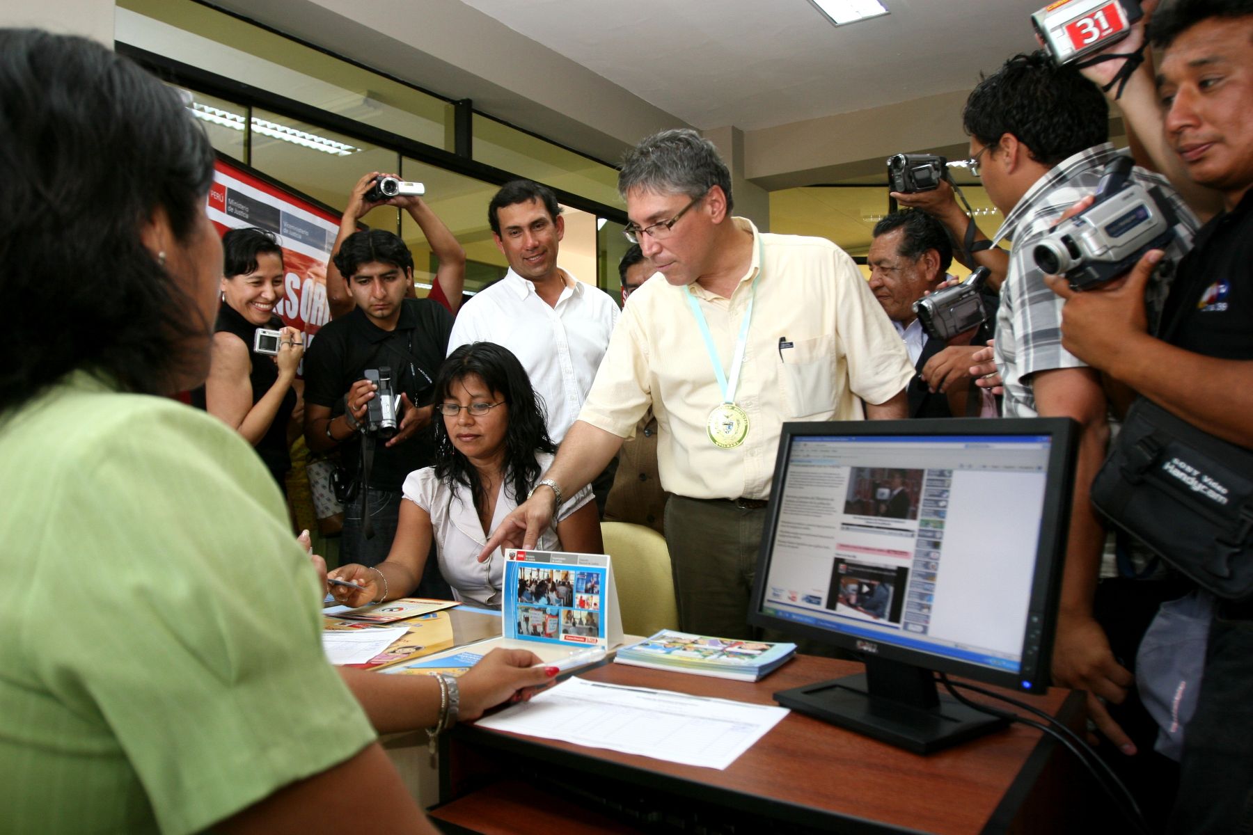
{"type": "MultiPolygon", "coordinates": [[[[613,663],[581,675],[772,704],[777,690],[860,671],[848,661],[798,657],[757,684],[613,663]]],[[[1081,725],[1079,694],[1030,699],[1071,727],[1081,725]]],[[[1071,831],[1066,816],[1080,814],[1075,795],[1088,785],[1051,737],[1017,725],[923,757],[793,712],[724,771],[474,726],[451,736],[441,756],[449,764],[441,770],[445,805],[432,814],[452,824],[449,832],[679,831],[632,822],[632,796],[654,820],[665,817],[657,809],[667,804],[708,807],[712,816],[699,826],[710,834],[1058,832],[1071,831]],[[609,807],[571,799],[580,787],[609,792],[609,807]]],[[[699,827],[688,822],[693,830],[699,827]]]]}

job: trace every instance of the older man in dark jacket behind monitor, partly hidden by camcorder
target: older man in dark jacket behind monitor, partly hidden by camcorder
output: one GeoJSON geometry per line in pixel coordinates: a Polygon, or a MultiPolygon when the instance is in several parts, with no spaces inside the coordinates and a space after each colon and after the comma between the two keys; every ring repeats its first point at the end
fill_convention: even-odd
{"type": "MultiPolygon", "coordinates": [[[[913,303],[933,292],[952,263],[952,243],[938,220],[910,209],[877,224],[866,259],[870,289],[905,341],[917,376],[907,389],[910,417],[966,413],[971,354],[990,337],[987,325],[957,334],[946,344],[926,333],[913,303]]],[[[977,394],[976,394],[977,397],[977,394]]],[[[974,404],[979,407],[979,402],[974,404]]],[[[977,413],[977,412],[976,412],[977,413]]]]}

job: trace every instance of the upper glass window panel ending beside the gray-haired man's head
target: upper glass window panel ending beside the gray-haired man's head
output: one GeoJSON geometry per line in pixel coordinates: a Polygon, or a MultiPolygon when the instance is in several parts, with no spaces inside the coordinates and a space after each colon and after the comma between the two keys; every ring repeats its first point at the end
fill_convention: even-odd
{"type": "Polygon", "coordinates": [[[621,205],[618,170],[474,114],[474,158],[519,177],[585,197],[605,205],[621,205]]]}

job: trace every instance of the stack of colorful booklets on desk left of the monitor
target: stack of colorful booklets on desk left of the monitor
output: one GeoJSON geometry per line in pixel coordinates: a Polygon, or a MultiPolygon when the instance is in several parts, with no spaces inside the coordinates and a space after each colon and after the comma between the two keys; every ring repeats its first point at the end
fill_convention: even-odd
{"type": "Polygon", "coordinates": [[[757,681],[793,655],[794,643],[734,641],[662,630],[639,643],[618,650],[614,661],[653,670],[757,681]]]}

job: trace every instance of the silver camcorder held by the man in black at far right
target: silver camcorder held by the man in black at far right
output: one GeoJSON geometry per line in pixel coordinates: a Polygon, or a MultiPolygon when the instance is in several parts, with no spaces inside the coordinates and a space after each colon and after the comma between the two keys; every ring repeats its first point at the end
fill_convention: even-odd
{"type": "Polygon", "coordinates": [[[1049,230],[1031,255],[1045,273],[1065,274],[1070,289],[1113,280],[1149,249],[1174,239],[1174,208],[1157,187],[1129,183],[1131,160],[1119,156],[1105,169],[1096,202],[1049,230]]]}

